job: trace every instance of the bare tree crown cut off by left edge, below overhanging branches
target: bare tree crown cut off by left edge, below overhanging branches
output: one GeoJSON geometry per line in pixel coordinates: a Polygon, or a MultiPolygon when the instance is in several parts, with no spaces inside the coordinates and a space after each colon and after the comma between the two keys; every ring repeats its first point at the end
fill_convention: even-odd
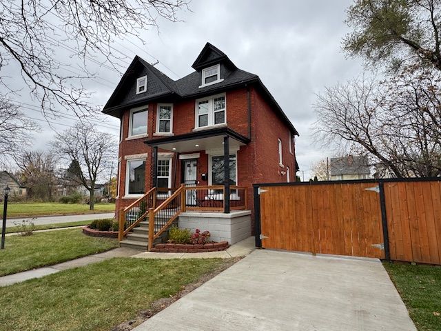
{"type": "Polygon", "coordinates": [[[38,129],[37,124],[27,119],[18,106],[0,97],[0,163],[4,165],[9,157],[16,157],[29,146],[32,133],[38,129]]]}

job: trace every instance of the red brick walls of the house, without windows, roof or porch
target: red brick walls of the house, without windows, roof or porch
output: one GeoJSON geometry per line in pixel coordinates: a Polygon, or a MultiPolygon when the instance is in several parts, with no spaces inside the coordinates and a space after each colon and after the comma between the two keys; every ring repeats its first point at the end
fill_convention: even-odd
{"type": "MultiPolygon", "coordinates": [[[[252,103],[252,141],[247,146],[241,146],[238,151],[238,185],[246,185],[248,187],[248,205],[250,209],[253,206],[253,183],[262,182],[285,182],[286,171],[289,166],[291,172],[291,181],[294,181],[296,175],[294,154],[289,153],[289,127],[278,117],[276,112],[263,99],[260,93],[254,88],[251,90],[252,103]],[[270,125],[269,125],[270,123],[270,125]],[[278,138],[282,140],[283,145],[283,165],[278,164],[278,138]]],[[[226,93],[227,103],[227,123],[229,128],[236,132],[247,136],[248,134],[248,113],[247,113],[247,89],[240,88],[238,90],[226,93]]],[[[129,128],[129,114],[127,110],[123,114],[123,141],[120,144],[119,157],[121,158],[121,181],[120,196],[123,197],[125,189],[125,155],[148,153],[146,162],[146,183],[145,190],[151,188],[151,158],[152,148],[145,145],[146,139],[155,139],[153,135],[156,131],[156,103],[149,104],[148,112],[148,138],[125,140],[129,128]]],[[[173,111],[173,132],[175,135],[192,132],[194,129],[195,117],[195,101],[182,101],[174,103],[173,111]]],[[[292,151],[294,152],[294,146],[292,151]]],[[[161,152],[161,150],[158,150],[161,152]]],[[[198,159],[198,181],[199,185],[208,185],[208,181],[202,181],[201,174],[208,173],[208,155],[205,151],[201,151],[198,159]]],[[[181,161],[174,158],[172,165],[172,174],[176,173],[176,177],[172,176],[172,183],[178,185],[181,183],[181,161]],[[178,169],[175,172],[176,163],[178,169]]],[[[123,208],[134,199],[118,199],[116,208],[123,208]]],[[[254,215],[253,215],[254,216],[254,215]]],[[[252,217],[254,219],[254,217],[252,217]]],[[[252,225],[254,228],[254,224],[252,225]]]]}

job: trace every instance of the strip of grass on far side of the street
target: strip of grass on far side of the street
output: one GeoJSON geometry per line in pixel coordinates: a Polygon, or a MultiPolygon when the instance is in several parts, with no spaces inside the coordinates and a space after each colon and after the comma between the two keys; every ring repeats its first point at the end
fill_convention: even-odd
{"type": "MultiPolygon", "coordinates": [[[[8,203],[9,217],[32,217],[42,215],[87,214],[89,212],[113,212],[114,203],[95,203],[94,210],[81,203],[32,202],[8,203]]],[[[3,203],[0,205],[3,210],[3,203]]]]}

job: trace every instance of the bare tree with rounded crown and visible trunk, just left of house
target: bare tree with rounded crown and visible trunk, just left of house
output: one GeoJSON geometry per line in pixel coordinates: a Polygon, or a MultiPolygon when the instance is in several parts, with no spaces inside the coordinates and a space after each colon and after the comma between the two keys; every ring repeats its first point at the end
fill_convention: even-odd
{"type": "Polygon", "coordinates": [[[91,124],[77,123],[74,128],[56,134],[51,145],[57,155],[74,165],[70,180],[89,191],[90,210],[93,210],[96,181],[116,155],[115,139],[111,134],[97,131],[91,124]]]}

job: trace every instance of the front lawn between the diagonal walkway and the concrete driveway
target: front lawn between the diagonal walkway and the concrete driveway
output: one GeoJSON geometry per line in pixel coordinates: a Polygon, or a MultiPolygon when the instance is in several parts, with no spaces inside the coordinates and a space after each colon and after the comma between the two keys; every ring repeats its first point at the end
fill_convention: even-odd
{"type": "Polygon", "coordinates": [[[0,288],[0,330],[110,330],[223,263],[114,258],[0,288]]]}

